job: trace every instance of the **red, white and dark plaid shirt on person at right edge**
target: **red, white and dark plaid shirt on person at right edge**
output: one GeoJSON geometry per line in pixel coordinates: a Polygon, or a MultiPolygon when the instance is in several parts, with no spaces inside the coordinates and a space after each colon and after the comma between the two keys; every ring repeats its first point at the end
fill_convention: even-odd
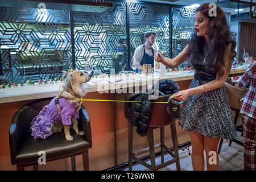
{"type": "Polygon", "coordinates": [[[249,88],[242,101],[240,113],[247,115],[250,118],[256,118],[256,65],[251,64],[250,68],[238,80],[240,88],[249,88]]]}

